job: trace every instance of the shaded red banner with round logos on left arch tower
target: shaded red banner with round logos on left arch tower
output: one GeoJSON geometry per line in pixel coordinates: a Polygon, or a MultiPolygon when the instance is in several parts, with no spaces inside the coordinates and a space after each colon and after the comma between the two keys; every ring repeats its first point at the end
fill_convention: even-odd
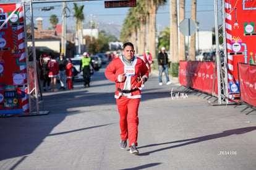
{"type": "Polygon", "coordinates": [[[27,108],[27,64],[22,4],[0,4],[0,114],[27,108]]]}

